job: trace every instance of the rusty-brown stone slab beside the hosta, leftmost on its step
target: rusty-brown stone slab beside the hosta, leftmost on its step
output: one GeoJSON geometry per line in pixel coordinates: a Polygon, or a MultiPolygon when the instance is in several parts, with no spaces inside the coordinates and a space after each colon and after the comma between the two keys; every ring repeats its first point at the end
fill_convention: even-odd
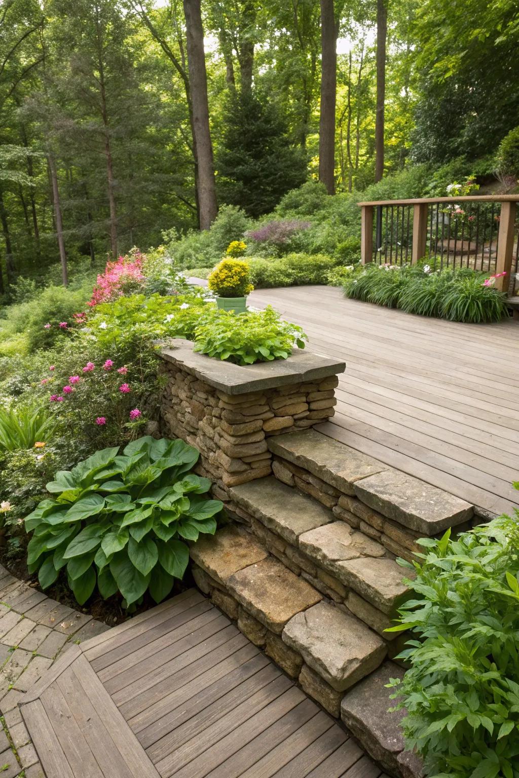
{"type": "Polygon", "coordinates": [[[254,562],[265,559],[268,552],[251,534],[227,524],[214,535],[205,535],[191,546],[191,559],[219,584],[254,562]]]}

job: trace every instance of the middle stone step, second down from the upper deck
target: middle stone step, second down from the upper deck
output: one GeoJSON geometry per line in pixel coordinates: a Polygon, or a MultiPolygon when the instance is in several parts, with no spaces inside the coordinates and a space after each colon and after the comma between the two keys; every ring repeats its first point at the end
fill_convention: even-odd
{"type": "Polygon", "coordinates": [[[373,621],[373,614],[357,605],[359,619],[380,633],[390,626],[384,614],[394,614],[407,589],[402,584],[402,567],[393,559],[384,558],[384,546],[345,521],[336,520],[331,510],[312,497],[272,476],[235,486],[231,496],[265,527],[299,548],[317,567],[331,573],[377,609],[373,621]]]}

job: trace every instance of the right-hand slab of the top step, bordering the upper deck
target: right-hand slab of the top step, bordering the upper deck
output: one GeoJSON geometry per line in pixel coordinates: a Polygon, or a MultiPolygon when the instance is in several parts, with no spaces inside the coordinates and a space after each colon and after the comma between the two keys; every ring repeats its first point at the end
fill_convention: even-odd
{"type": "Polygon", "coordinates": [[[354,485],[356,496],[389,519],[430,536],[456,527],[474,512],[464,499],[400,470],[386,470],[354,485]]]}

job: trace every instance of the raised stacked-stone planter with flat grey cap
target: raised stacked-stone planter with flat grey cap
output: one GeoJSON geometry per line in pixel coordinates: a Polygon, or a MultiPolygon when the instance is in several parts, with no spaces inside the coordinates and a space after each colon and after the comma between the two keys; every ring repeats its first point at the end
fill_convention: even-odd
{"type": "Polygon", "coordinates": [[[337,373],[345,363],[307,351],[238,366],[193,351],[177,339],[163,349],[168,376],[162,416],[167,434],[198,448],[198,471],[216,496],[272,473],[267,439],[313,427],[334,414],[337,373]]]}

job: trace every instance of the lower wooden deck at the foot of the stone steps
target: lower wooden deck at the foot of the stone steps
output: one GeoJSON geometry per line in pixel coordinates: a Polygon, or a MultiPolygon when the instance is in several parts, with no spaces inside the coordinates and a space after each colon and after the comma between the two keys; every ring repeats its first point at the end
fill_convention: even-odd
{"type": "Polygon", "coordinates": [[[47,778],[387,778],[193,589],[68,650],[21,710],[47,778]]]}

